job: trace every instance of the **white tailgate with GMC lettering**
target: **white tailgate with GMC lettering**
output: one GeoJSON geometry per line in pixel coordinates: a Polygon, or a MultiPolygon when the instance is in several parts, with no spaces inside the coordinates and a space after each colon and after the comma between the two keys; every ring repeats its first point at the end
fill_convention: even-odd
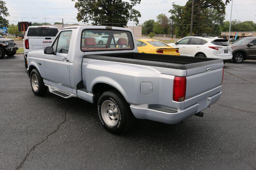
{"type": "Polygon", "coordinates": [[[29,48],[31,49],[42,49],[44,50],[45,47],[49,47],[52,43],[54,37],[29,37],[29,48]]]}

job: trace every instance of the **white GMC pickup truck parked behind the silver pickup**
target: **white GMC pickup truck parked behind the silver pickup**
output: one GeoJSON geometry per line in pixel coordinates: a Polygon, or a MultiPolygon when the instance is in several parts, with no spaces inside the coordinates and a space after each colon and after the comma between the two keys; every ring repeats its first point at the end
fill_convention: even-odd
{"type": "Polygon", "coordinates": [[[30,51],[44,50],[52,44],[52,40],[59,32],[57,27],[30,26],[23,38],[24,60],[27,68],[27,53],[30,51]]]}

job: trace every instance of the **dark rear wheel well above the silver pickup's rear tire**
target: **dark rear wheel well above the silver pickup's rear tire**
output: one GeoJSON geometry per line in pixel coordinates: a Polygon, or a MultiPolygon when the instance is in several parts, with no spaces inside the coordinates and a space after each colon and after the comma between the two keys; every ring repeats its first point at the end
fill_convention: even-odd
{"type": "MultiPolygon", "coordinates": [[[[93,92],[93,103],[97,103],[99,96],[105,92],[105,91],[109,91],[109,90],[116,90],[120,93],[119,90],[117,90],[117,88],[106,84],[106,83],[97,83],[94,84],[92,92],[93,92]]],[[[121,93],[120,93],[121,94],[121,93]]],[[[121,94],[122,95],[122,94],[121,94]]]]}

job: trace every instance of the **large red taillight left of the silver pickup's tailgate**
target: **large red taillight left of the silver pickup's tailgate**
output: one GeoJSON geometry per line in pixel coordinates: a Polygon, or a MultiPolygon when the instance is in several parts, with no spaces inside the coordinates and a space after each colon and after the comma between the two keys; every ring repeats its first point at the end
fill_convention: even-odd
{"type": "Polygon", "coordinates": [[[186,77],[174,77],[173,81],[173,100],[176,102],[182,102],[185,100],[186,95],[186,77]]]}

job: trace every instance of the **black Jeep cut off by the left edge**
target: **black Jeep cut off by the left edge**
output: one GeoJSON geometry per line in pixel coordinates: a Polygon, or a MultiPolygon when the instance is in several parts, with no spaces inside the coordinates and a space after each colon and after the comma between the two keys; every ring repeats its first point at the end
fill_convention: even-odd
{"type": "Polygon", "coordinates": [[[19,47],[16,45],[14,40],[8,38],[0,38],[0,59],[3,59],[5,54],[13,56],[19,47]]]}

